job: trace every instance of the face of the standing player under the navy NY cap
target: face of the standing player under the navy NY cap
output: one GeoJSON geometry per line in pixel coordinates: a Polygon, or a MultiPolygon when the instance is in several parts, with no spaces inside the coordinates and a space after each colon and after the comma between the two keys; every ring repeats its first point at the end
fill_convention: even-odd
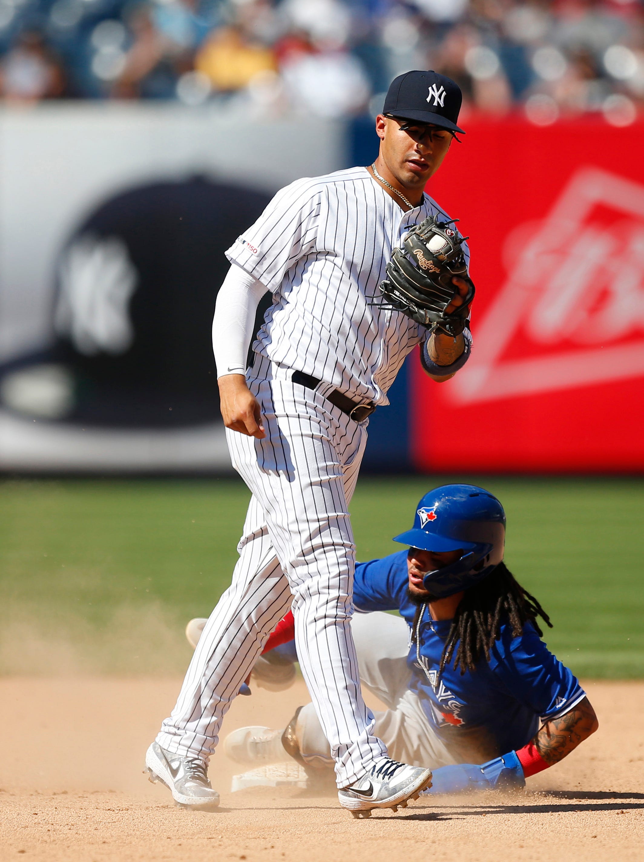
{"type": "Polygon", "coordinates": [[[424,187],[441,167],[452,143],[445,128],[382,114],[376,121],[380,154],[397,180],[410,189],[424,187]]]}

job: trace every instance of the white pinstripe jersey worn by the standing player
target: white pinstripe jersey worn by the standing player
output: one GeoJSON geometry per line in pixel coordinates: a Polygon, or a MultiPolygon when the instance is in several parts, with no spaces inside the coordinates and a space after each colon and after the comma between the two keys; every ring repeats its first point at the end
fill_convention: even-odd
{"type": "Polygon", "coordinates": [[[427,330],[382,308],[378,284],[403,234],[436,214],[448,218],[427,195],[403,212],[364,167],[278,191],[226,253],[273,293],[253,350],[355,400],[389,403],[387,390],[427,330]]]}

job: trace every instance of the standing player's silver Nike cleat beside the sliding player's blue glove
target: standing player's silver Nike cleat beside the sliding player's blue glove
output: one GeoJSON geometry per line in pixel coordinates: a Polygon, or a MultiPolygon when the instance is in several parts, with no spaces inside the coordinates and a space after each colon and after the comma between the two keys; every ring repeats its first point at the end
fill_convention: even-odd
{"type": "Polygon", "coordinates": [[[371,817],[374,808],[407,808],[410,799],[417,799],[431,786],[431,770],[385,757],[364,778],[338,790],[338,799],[354,817],[371,817]]]}

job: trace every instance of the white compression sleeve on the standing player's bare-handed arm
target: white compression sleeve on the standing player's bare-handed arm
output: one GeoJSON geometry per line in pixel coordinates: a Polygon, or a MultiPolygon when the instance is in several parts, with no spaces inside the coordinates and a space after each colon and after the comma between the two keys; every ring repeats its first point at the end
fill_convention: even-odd
{"type": "Polygon", "coordinates": [[[217,378],[245,374],[259,300],[267,288],[240,265],[231,264],[217,294],[212,321],[212,349],[217,378]]]}

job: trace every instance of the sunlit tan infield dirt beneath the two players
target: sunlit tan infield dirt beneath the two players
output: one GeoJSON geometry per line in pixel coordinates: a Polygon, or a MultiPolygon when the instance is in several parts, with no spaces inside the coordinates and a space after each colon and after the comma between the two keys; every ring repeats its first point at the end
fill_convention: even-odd
{"type": "MultiPolygon", "coordinates": [[[[221,755],[215,814],[176,809],[143,776],[178,680],[0,680],[0,859],[129,862],[581,862],[644,859],[644,684],[587,684],[600,730],[516,796],[421,799],[354,820],[333,796],[228,792],[243,767],[221,755]]],[[[226,731],[282,727],[303,684],[239,697],[226,731]]]]}

